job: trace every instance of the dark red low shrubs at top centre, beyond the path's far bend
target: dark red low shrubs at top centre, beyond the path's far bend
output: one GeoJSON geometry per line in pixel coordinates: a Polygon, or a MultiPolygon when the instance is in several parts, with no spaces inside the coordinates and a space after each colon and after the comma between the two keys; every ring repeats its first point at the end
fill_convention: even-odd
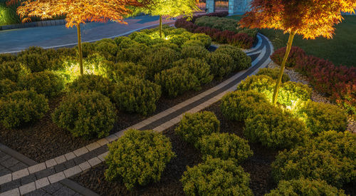
{"type": "MultiPolygon", "coordinates": [[[[227,16],[226,14],[221,14],[217,17],[225,17],[227,16]]],[[[177,28],[184,28],[187,29],[189,32],[194,32],[194,33],[205,33],[206,35],[209,35],[213,41],[216,41],[218,43],[229,43],[232,46],[237,46],[239,48],[251,48],[253,46],[253,41],[256,40],[256,35],[257,31],[255,29],[236,29],[236,31],[230,31],[231,27],[229,27],[230,30],[224,30],[226,29],[224,27],[224,21],[221,21],[221,23],[214,25],[209,25],[207,24],[208,21],[211,19],[214,20],[216,17],[215,15],[200,15],[200,16],[194,16],[193,19],[189,21],[187,18],[182,18],[182,19],[177,19],[175,22],[175,26],[177,28]],[[206,22],[205,22],[206,21],[206,22]],[[197,22],[197,24],[194,24],[194,22],[197,22]],[[205,24],[207,26],[205,26],[205,24]],[[199,26],[201,25],[201,26],[199,26]],[[218,29],[216,29],[216,28],[218,29]]],[[[223,18],[220,18],[219,20],[224,20],[223,18]]],[[[231,19],[226,19],[228,21],[231,21],[231,19]]],[[[237,21],[235,21],[237,24],[237,21]]]]}

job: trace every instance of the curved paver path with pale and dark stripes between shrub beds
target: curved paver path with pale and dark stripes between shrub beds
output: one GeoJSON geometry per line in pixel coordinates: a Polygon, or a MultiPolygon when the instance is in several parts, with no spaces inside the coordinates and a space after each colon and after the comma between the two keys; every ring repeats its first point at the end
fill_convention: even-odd
{"type": "MultiPolygon", "coordinates": [[[[245,52],[248,56],[251,56],[253,60],[251,68],[240,71],[231,78],[220,83],[218,86],[210,88],[193,98],[189,98],[188,100],[164,110],[162,113],[153,115],[125,130],[135,128],[140,130],[152,129],[157,132],[162,132],[162,130],[179,123],[184,113],[196,113],[212,103],[217,102],[224,96],[224,94],[230,91],[235,91],[236,86],[244,80],[244,78],[255,74],[259,68],[266,67],[268,63],[271,62],[269,56],[273,53],[273,46],[268,38],[258,34],[258,43],[256,46],[245,52]]],[[[105,156],[108,155],[107,144],[120,138],[125,133],[125,130],[120,130],[106,138],[90,143],[83,148],[47,160],[46,162],[32,163],[29,167],[25,167],[6,175],[0,175],[0,196],[23,195],[47,187],[48,185],[51,186],[57,182],[66,182],[66,180],[68,180],[67,178],[102,163],[105,156]],[[32,180],[26,180],[26,183],[23,183],[23,179],[30,175],[34,176],[34,178],[32,180]],[[7,187],[6,191],[2,191],[1,187],[7,187]]],[[[77,191],[80,192],[80,190],[77,191]]],[[[95,195],[94,192],[80,193],[85,195],[95,195]]]]}

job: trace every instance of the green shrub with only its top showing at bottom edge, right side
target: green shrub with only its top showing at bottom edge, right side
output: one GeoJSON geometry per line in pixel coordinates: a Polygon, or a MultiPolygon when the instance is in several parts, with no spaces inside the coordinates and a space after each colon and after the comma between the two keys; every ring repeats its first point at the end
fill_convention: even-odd
{"type": "MultiPolygon", "coordinates": [[[[336,187],[328,185],[323,180],[308,180],[300,178],[298,180],[282,180],[278,183],[278,187],[271,190],[265,196],[279,196],[279,195],[339,195],[344,196],[344,190],[338,190],[336,187]]],[[[345,195],[346,196],[346,195],[345,195]]]]}

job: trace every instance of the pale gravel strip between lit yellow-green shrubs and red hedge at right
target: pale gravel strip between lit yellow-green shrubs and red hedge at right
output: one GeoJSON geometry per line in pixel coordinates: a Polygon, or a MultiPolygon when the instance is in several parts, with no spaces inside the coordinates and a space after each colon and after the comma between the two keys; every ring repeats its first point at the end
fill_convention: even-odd
{"type": "MultiPolygon", "coordinates": [[[[274,63],[273,61],[271,61],[271,63],[268,64],[268,68],[279,68],[280,66],[278,66],[276,63],[274,63]]],[[[290,81],[293,82],[299,82],[299,83],[303,83],[303,84],[307,84],[308,83],[308,78],[306,78],[305,76],[302,76],[300,73],[298,73],[297,71],[294,71],[293,68],[285,68],[284,72],[288,74],[288,76],[290,77],[290,81]]],[[[313,88],[312,86],[310,86],[311,88],[313,88]]],[[[322,102],[322,103],[331,103],[331,101],[329,100],[329,98],[327,98],[326,96],[324,96],[321,93],[318,93],[316,91],[312,92],[312,97],[311,99],[315,102],[322,102]]],[[[354,118],[352,118],[351,115],[348,115],[347,117],[347,131],[350,131],[351,133],[356,133],[356,121],[354,118]]]]}

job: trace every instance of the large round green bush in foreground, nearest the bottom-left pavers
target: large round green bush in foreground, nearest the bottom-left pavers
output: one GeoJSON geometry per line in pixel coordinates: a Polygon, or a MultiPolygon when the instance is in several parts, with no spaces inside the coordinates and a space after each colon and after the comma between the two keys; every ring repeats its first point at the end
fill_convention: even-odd
{"type": "Polygon", "coordinates": [[[128,190],[135,185],[158,182],[167,163],[175,156],[169,139],[152,130],[127,130],[108,146],[105,179],[121,180],[128,190]]]}

